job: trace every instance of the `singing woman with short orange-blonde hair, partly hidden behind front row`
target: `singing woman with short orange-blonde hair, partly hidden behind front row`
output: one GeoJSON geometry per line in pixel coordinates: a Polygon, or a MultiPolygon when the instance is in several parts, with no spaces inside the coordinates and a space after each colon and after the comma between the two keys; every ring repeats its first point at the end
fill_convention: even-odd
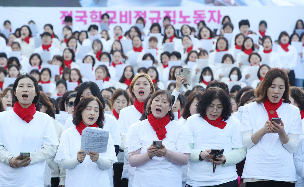
{"type": "MultiPolygon", "coordinates": [[[[129,91],[131,96],[135,98],[134,105],[123,108],[119,113],[118,125],[121,136],[121,149],[124,150],[124,154],[127,154],[128,142],[125,142],[126,134],[129,126],[139,122],[141,115],[144,113],[144,101],[146,98],[155,92],[153,82],[148,74],[138,74],[131,82],[129,91]]],[[[122,186],[132,186],[134,178],[134,169],[129,171],[128,160],[124,159],[123,174],[122,174],[122,186]],[[129,181],[128,181],[129,180],[129,181]]]]}

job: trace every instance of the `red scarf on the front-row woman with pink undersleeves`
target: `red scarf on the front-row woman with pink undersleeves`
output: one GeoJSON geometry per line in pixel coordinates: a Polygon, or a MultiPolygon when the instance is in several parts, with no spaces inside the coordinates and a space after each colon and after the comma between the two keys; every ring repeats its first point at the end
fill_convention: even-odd
{"type": "Polygon", "coordinates": [[[169,114],[161,119],[156,119],[152,113],[149,113],[148,121],[155,130],[158,139],[162,140],[166,138],[166,125],[170,122],[169,114]]]}

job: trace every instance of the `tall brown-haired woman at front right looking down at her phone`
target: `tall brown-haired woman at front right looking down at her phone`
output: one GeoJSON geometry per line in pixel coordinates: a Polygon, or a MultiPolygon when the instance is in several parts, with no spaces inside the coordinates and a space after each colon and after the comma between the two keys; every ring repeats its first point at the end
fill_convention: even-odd
{"type": "Polygon", "coordinates": [[[255,95],[255,102],[243,109],[242,132],[247,155],[242,179],[248,187],[294,186],[296,170],[292,153],[302,135],[302,125],[299,109],[288,104],[286,71],[270,69],[255,95]],[[280,117],[281,121],[276,123],[272,117],[280,117]],[[261,154],[265,155],[263,159],[261,154]]]}

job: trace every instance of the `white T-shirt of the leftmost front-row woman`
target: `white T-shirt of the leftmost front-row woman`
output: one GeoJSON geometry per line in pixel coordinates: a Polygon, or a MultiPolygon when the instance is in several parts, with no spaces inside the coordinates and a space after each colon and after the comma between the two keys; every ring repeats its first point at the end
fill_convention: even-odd
{"type": "MultiPolygon", "coordinates": [[[[52,118],[36,111],[29,122],[13,110],[0,113],[0,145],[17,156],[20,152],[34,153],[42,145],[58,145],[52,118]]],[[[0,186],[44,186],[46,160],[24,168],[11,168],[0,162],[0,186]]]]}

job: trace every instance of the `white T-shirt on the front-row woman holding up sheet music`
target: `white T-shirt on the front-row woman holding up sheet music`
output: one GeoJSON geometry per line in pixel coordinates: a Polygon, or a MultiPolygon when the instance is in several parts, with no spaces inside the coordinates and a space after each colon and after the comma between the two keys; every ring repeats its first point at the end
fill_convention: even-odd
{"type": "MultiPolygon", "coordinates": [[[[61,161],[66,158],[77,157],[77,152],[80,150],[81,135],[76,129],[76,126],[67,129],[63,132],[60,138],[60,144],[56,153],[55,162],[61,164],[61,161]]],[[[104,159],[117,162],[115,148],[111,134],[109,135],[107,152],[99,153],[104,159]]],[[[107,170],[100,169],[97,164],[92,162],[89,155],[81,164],[71,169],[66,169],[66,187],[72,186],[110,186],[107,170]]]]}

